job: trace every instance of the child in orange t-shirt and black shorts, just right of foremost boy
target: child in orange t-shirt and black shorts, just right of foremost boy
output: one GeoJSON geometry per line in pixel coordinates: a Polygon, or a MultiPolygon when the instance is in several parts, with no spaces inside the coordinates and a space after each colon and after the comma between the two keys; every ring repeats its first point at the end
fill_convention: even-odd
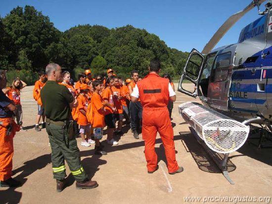
{"type": "Polygon", "coordinates": [[[105,103],[105,123],[107,125],[107,142],[108,144],[117,145],[118,142],[113,139],[113,131],[115,129],[115,119],[113,113],[116,112],[116,108],[113,102],[113,92],[111,87],[113,86],[113,79],[107,78],[106,88],[102,93],[102,99],[105,103]]]}

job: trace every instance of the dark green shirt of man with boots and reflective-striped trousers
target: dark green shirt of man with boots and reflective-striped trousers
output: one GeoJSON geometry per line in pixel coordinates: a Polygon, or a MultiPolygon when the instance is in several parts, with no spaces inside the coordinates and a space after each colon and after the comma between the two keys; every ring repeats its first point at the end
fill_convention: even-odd
{"type": "Polygon", "coordinates": [[[70,119],[69,103],[74,100],[68,88],[54,81],[47,81],[41,89],[41,99],[45,107],[46,118],[52,121],[66,121],[70,119]]]}

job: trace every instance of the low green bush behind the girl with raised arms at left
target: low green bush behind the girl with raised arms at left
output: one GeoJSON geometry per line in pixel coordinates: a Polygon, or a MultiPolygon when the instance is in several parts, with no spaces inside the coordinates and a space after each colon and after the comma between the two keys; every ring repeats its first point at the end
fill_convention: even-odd
{"type": "Polygon", "coordinates": [[[12,70],[6,73],[7,85],[10,86],[17,77],[20,80],[27,83],[27,85],[33,85],[37,80],[39,80],[38,73],[34,73],[31,70],[12,70]]]}

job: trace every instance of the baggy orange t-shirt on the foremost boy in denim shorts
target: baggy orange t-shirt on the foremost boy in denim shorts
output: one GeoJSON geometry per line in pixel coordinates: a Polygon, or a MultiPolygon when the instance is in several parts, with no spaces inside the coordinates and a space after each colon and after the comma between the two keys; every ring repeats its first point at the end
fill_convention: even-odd
{"type": "Polygon", "coordinates": [[[103,106],[103,99],[100,94],[94,92],[91,97],[91,110],[92,110],[92,118],[93,123],[91,124],[92,127],[104,127],[104,114],[105,112],[102,110],[103,106]]]}

